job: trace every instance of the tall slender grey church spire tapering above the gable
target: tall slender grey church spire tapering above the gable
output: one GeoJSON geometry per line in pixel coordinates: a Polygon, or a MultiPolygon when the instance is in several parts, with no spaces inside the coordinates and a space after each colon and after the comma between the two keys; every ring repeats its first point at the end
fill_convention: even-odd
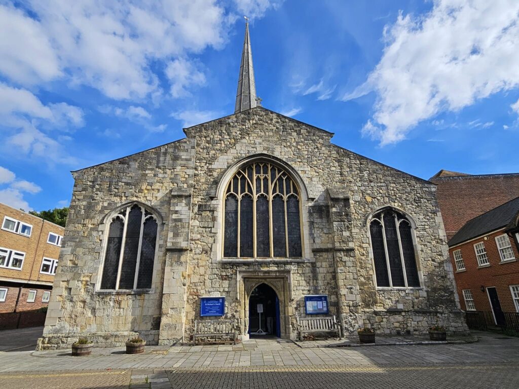
{"type": "Polygon", "coordinates": [[[249,19],[245,17],[245,40],[241,53],[240,77],[238,78],[238,92],[234,113],[257,106],[256,85],[254,84],[254,69],[252,67],[251,38],[249,36],[249,19]]]}

